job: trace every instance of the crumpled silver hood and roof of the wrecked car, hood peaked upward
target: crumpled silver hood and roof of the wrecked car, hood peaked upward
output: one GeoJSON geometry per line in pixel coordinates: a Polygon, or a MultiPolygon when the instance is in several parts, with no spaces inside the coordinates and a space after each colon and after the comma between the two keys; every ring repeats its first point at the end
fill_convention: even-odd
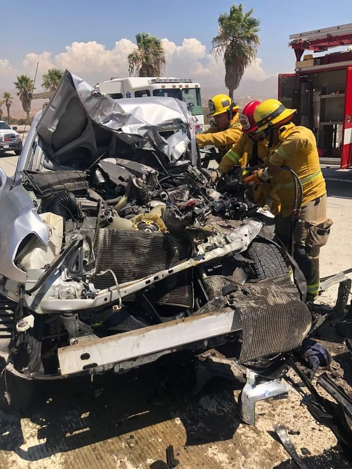
{"type": "Polygon", "coordinates": [[[88,168],[112,147],[114,135],[121,145],[158,150],[170,162],[196,161],[195,122],[185,103],[167,97],[115,101],[67,70],[37,132],[47,157],[64,166],[88,168]],[[164,138],[160,132],[167,130],[173,133],[164,138]]]}

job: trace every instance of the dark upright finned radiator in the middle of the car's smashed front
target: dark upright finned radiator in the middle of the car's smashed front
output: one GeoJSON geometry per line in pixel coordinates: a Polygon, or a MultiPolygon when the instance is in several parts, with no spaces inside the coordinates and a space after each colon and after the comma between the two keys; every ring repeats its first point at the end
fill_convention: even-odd
{"type": "MultiPolygon", "coordinates": [[[[191,256],[186,241],[163,233],[123,231],[102,228],[98,231],[94,253],[96,272],[111,269],[119,283],[152,275],[168,269],[191,256]]],[[[111,275],[94,279],[96,288],[114,285],[111,275]]],[[[192,272],[180,272],[151,285],[147,297],[154,304],[190,308],[193,306],[192,272]]],[[[129,295],[124,301],[133,301],[129,295]]]]}

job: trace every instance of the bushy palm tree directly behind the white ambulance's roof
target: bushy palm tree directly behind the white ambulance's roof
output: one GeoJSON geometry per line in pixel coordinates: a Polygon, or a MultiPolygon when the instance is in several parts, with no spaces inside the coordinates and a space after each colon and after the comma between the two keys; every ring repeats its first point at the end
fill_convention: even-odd
{"type": "Polygon", "coordinates": [[[165,68],[165,51],[162,43],[148,33],[136,34],[137,48],[128,56],[130,76],[159,77],[165,68]]]}

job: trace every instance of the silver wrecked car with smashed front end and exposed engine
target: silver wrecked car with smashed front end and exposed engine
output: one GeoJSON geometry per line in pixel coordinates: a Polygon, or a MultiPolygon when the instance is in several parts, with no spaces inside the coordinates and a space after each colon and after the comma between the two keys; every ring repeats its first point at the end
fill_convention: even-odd
{"type": "Polygon", "coordinates": [[[238,181],[208,185],[184,103],[114,101],[66,71],[15,175],[0,178],[0,352],[12,373],[120,372],[227,341],[247,364],[306,337],[272,218],[238,181]]]}

